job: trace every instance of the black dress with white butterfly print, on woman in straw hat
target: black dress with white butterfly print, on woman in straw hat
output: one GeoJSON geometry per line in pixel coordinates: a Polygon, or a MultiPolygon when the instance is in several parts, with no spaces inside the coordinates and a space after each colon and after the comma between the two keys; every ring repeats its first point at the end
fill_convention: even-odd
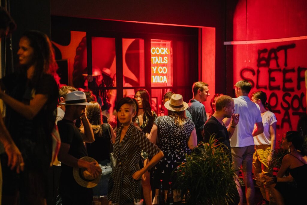
{"type": "MultiPolygon", "coordinates": [[[[158,119],[154,121],[158,124],[158,119]]],[[[195,128],[190,118],[185,118],[183,126],[176,124],[170,116],[162,116],[160,119],[160,143],[159,148],[164,153],[164,157],[153,168],[153,183],[155,188],[159,188],[160,179],[163,179],[163,186],[168,189],[168,182],[174,182],[175,177],[171,177],[172,171],[179,163],[185,161],[185,154],[190,154],[188,148],[188,138],[195,128]]]]}

